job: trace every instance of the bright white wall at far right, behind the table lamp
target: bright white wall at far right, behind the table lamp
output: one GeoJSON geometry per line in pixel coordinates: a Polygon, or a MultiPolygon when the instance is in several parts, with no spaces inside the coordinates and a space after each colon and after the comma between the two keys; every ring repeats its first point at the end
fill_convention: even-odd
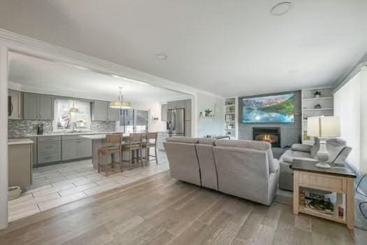
{"type": "Polygon", "coordinates": [[[341,137],[352,146],[348,162],[367,172],[367,71],[362,70],[334,94],[334,114],[340,117],[341,137]]]}

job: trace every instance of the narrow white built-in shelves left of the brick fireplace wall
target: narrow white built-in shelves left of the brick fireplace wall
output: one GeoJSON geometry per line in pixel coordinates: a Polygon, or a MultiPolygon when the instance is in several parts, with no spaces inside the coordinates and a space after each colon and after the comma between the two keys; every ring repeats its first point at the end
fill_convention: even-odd
{"type": "Polygon", "coordinates": [[[224,131],[231,139],[238,137],[238,97],[224,100],[224,131]]]}

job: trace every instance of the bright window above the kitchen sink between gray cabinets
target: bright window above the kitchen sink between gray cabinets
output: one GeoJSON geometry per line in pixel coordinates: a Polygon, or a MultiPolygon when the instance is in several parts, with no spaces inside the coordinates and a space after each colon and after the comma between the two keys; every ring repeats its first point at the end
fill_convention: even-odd
{"type": "Polygon", "coordinates": [[[90,131],[90,103],[71,99],[55,99],[54,132],[90,131]],[[71,108],[78,112],[70,112],[71,108]]]}

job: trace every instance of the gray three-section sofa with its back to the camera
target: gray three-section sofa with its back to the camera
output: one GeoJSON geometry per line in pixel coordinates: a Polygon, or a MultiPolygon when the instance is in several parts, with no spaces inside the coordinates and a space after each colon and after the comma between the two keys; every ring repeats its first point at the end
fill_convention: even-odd
{"type": "Polygon", "coordinates": [[[271,144],[170,137],[164,143],[171,176],[270,205],[279,179],[271,144]]]}

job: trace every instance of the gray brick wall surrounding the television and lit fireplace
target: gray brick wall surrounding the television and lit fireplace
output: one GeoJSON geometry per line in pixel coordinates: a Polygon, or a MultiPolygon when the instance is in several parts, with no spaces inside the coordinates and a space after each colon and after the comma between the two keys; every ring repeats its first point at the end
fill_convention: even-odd
{"type": "Polygon", "coordinates": [[[250,97],[270,96],[277,94],[288,94],[281,92],[277,94],[259,94],[250,97],[238,98],[238,139],[252,140],[252,128],[254,127],[279,127],[280,128],[280,148],[273,148],[274,158],[279,158],[285,151],[284,146],[291,146],[301,140],[302,134],[302,113],[301,113],[301,91],[294,92],[294,123],[242,123],[242,100],[250,97]]]}

